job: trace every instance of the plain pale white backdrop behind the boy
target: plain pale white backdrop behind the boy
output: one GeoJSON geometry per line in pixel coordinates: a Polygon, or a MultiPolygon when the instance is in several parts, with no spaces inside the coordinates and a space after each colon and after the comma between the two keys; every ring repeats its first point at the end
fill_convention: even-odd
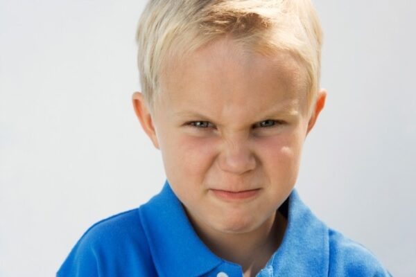
{"type": "MultiPolygon", "coordinates": [[[[315,1],[329,95],[297,188],[416,276],[415,1],[315,1]]],[[[0,1],[0,276],[53,276],[94,222],[164,182],[131,105],[144,1],[0,1]]]]}

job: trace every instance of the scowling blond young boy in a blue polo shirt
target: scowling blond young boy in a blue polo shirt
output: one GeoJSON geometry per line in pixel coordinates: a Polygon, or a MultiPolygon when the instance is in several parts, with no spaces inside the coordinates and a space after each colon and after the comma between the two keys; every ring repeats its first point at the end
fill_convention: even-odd
{"type": "Polygon", "coordinates": [[[58,276],[389,276],[293,189],[326,96],[309,0],[151,0],[137,42],[133,105],[166,184],[58,276]]]}

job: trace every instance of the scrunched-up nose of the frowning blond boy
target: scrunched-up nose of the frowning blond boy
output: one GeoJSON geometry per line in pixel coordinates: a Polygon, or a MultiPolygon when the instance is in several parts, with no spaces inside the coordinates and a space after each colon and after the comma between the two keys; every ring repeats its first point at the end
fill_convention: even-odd
{"type": "Polygon", "coordinates": [[[247,139],[228,139],[224,141],[222,151],[218,157],[221,170],[241,175],[256,168],[256,157],[250,150],[247,139]]]}

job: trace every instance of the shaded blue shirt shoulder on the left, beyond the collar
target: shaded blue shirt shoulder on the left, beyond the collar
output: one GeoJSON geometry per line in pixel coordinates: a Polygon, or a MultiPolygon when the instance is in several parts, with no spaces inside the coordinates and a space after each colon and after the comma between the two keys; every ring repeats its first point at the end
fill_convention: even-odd
{"type": "Polygon", "coordinates": [[[58,276],[140,276],[153,269],[140,208],[92,225],[78,240],[58,276]],[[115,275],[114,275],[115,274],[115,275]]]}

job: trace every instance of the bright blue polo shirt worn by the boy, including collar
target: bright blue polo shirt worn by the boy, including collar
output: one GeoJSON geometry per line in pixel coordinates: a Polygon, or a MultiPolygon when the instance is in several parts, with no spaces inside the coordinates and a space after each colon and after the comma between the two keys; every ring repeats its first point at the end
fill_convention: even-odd
{"type": "MultiPolygon", "coordinates": [[[[281,208],[288,217],[284,239],[257,276],[390,276],[361,244],[318,220],[296,190],[284,205],[281,208]]],[[[168,182],[148,203],[94,224],[73,247],[57,274],[242,275],[240,265],[219,258],[198,238],[168,182]]]]}

